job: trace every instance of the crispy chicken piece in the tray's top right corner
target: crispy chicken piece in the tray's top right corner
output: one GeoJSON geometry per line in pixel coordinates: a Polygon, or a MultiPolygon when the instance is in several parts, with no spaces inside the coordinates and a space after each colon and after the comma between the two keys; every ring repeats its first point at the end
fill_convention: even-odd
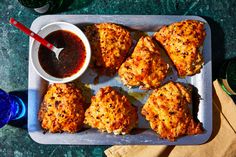
{"type": "Polygon", "coordinates": [[[204,64],[200,48],[205,36],[204,24],[195,20],[164,26],[154,34],[173,61],[179,76],[200,72],[204,64]]]}

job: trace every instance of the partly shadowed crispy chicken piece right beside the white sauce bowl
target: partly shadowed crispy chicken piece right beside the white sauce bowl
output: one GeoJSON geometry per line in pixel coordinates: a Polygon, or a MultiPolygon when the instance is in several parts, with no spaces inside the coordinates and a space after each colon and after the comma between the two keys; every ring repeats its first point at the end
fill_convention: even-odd
{"type": "Polygon", "coordinates": [[[94,66],[103,74],[114,74],[131,48],[130,32],[116,24],[100,23],[88,26],[85,34],[92,48],[94,66]]]}

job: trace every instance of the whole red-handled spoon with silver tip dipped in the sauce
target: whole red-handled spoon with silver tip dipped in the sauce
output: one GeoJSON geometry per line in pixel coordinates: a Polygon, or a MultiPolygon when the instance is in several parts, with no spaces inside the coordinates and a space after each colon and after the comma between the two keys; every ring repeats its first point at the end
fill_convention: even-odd
{"type": "Polygon", "coordinates": [[[49,43],[48,41],[46,41],[45,39],[43,39],[42,37],[40,37],[38,34],[34,33],[33,31],[31,31],[29,28],[27,28],[26,26],[24,26],[23,24],[21,24],[20,22],[16,21],[14,18],[10,18],[10,24],[12,24],[13,26],[15,26],[16,28],[18,28],[19,30],[21,30],[22,32],[24,32],[25,34],[27,34],[28,36],[34,38],[36,41],[38,41],[39,43],[41,43],[43,46],[47,47],[48,49],[50,49],[51,51],[53,51],[56,55],[56,58],[59,60],[59,54],[60,52],[64,49],[64,48],[57,48],[56,46],[54,46],[53,44],[49,43]]]}

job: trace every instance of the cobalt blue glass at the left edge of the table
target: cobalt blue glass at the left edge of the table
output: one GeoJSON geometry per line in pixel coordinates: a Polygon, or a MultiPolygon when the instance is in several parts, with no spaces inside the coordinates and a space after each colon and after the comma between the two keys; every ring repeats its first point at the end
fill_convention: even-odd
{"type": "Polygon", "coordinates": [[[19,97],[0,89],[0,128],[12,120],[24,117],[25,114],[24,102],[19,97]]]}

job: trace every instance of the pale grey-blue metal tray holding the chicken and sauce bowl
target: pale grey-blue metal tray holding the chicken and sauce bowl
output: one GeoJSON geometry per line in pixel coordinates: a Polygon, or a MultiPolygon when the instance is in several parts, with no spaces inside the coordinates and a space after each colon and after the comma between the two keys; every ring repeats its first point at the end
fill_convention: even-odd
{"type": "MultiPolygon", "coordinates": [[[[128,89],[123,86],[118,76],[100,77],[99,83],[94,85],[96,73],[88,69],[80,78],[80,81],[91,88],[95,94],[99,88],[110,85],[117,87],[129,95],[129,100],[139,107],[139,124],[129,135],[113,135],[101,133],[96,129],[83,129],[75,134],[68,133],[44,133],[38,121],[38,110],[42,97],[47,89],[48,82],[40,78],[35,72],[33,65],[29,62],[29,84],[28,84],[28,132],[31,138],[41,144],[68,144],[68,145],[115,145],[115,144],[158,144],[158,145],[193,145],[206,142],[212,132],[212,62],[211,62],[211,31],[208,23],[198,16],[168,16],[168,15],[46,15],[34,20],[31,30],[38,32],[43,26],[55,21],[64,21],[83,27],[88,24],[112,22],[127,26],[134,30],[141,30],[152,35],[163,25],[186,19],[199,20],[205,23],[206,39],[204,41],[203,56],[205,64],[201,73],[192,77],[180,79],[176,72],[165,80],[173,80],[192,84],[198,89],[201,96],[199,103],[198,119],[203,123],[204,133],[194,136],[184,136],[174,142],[163,140],[153,132],[149,123],[141,116],[140,108],[145,103],[151,91],[143,91],[138,88],[128,89]]],[[[32,39],[30,39],[30,45],[32,39]]],[[[30,52],[29,52],[30,53],[30,52]]],[[[87,96],[86,96],[87,97],[87,96]]]]}

